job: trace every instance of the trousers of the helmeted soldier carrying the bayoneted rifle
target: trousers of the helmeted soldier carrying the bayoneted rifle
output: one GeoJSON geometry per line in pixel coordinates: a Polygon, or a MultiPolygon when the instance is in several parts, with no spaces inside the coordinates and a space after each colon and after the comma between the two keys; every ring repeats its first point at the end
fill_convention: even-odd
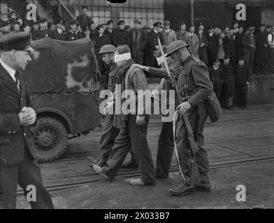
{"type": "MultiPolygon", "coordinates": [[[[198,171],[200,174],[202,183],[209,183],[209,162],[208,153],[204,148],[204,135],[203,129],[208,117],[206,107],[204,104],[195,107],[189,112],[189,122],[194,132],[194,139],[199,146],[199,151],[196,153],[196,162],[198,165],[198,171]]],[[[187,139],[187,132],[183,123],[182,117],[179,118],[176,128],[176,145],[178,148],[178,155],[180,160],[180,166],[182,167],[182,173],[191,179],[191,160],[192,155],[190,151],[189,142],[187,139]]]]}

